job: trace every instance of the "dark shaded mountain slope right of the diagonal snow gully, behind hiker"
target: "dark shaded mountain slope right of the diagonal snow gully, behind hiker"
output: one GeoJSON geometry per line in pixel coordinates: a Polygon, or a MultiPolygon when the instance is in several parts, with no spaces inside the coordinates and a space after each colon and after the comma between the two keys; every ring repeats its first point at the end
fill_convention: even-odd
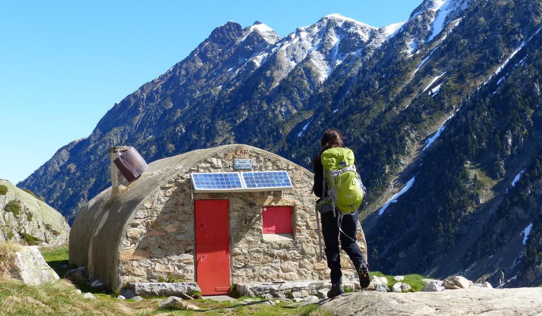
{"type": "MultiPolygon", "coordinates": [[[[501,14],[512,18],[517,10],[523,9],[505,7],[501,14]]],[[[436,277],[468,271],[499,286],[541,284],[540,240],[530,231],[542,225],[542,34],[539,26],[524,28],[423,144],[423,155],[405,171],[411,181],[400,197],[366,220],[371,255],[386,271],[436,277]]],[[[462,76],[451,71],[444,78],[462,76]]]]}

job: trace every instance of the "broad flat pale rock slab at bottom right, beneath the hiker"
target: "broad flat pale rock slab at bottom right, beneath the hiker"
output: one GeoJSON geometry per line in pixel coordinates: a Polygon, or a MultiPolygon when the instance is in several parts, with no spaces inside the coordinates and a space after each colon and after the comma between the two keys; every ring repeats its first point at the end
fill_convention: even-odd
{"type": "Polygon", "coordinates": [[[321,307],[341,316],[533,315],[542,311],[542,288],[470,287],[442,292],[358,292],[325,301],[321,307]]]}

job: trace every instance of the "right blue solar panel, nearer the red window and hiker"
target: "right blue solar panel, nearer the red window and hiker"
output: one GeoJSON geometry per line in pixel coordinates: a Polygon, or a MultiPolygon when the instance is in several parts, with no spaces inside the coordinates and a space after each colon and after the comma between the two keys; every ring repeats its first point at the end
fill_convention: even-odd
{"type": "Polygon", "coordinates": [[[285,170],[242,172],[241,177],[247,191],[278,191],[294,188],[285,170]]]}

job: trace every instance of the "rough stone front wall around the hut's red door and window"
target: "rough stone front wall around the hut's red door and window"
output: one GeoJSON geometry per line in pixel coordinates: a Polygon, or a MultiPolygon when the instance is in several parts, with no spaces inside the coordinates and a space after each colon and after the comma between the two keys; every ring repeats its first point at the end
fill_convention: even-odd
{"type": "MultiPolygon", "coordinates": [[[[199,193],[193,199],[228,199],[231,281],[315,280],[328,278],[318,262],[318,236],[311,193],[313,175],[275,155],[243,147],[218,153],[176,176],[137,210],[120,252],[120,281],[158,281],[171,274],[195,280],[194,201],[190,172],[232,172],[234,159],[252,159],[253,170],[288,170],[294,189],[284,192],[199,193]],[[293,234],[262,233],[263,206],[292,206],[293,234]]],[[[323,242],[323,241],[322,241],[323,242]]],[[[364,246],[364,242],[363,242],[364,246]]],[[[345,268],[350,261],[342,256],[345,268]]],[[[345,271],[353,276],[353,271],[345,271]]]]}

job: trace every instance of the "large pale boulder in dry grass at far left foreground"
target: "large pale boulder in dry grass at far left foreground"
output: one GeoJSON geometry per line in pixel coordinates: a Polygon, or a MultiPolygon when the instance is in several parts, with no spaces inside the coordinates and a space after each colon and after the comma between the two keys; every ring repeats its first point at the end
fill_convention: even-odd
{"type": "Polygon", "coordinates": [[[59,275],[47,265],[37,246],[25,246],[15,253],[11,275],[28,285],[56,281],[59,275]]]}

